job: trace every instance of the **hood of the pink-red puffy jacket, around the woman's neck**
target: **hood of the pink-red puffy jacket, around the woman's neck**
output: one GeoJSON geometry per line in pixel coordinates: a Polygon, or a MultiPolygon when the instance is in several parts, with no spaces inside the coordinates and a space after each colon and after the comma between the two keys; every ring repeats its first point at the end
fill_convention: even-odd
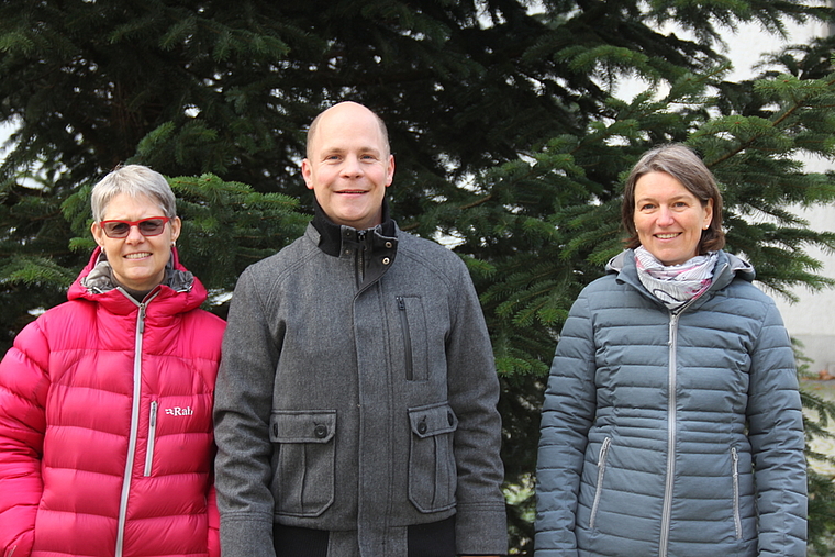
{"type": "MultiPolygon", "coordinates": [[[[171,313],[199,308],[208,297],[200,280],[180,264],[176,247],[171,247],[171,258],[166,265],[163,282],[148,296],[152,294],[157,300],[168,300],[168,310],[171,313]]],[[[112,269],[101,247],[93,250],[89,263],[69,287],[67,298],[102,303],[114,313],[134,311],[138,303],[113,279],[112,269]]]]}

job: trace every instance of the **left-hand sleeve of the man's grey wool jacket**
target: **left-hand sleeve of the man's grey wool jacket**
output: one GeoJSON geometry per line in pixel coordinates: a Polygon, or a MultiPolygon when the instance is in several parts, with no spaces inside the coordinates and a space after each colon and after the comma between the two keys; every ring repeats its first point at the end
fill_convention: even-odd
{"type": "Polygon", "coordinates": [[[215,488],[224,557],[275,557],[269,419],[278,347],[256,285],[244,271],[235,287],[215,387],[215,488]]]}

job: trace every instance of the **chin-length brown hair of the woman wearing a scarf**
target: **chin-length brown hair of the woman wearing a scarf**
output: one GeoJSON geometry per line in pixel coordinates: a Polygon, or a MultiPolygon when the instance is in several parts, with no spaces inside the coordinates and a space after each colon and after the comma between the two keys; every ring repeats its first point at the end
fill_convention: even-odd
{"type": "Polygon", "coordinates": [[[690,147],[680,143],[661,145],[644,153],[641,160],[632,168],[623,191],[621,219],[628,236],[624,239],[627,248],[641,245],[635,230],[635,185],[649,172],[666,172],[676,178],[687,190],[708,207],[713,200],[713,218],[699,241],[699,255],[715,252],[725,246],[725,233],[722,230],[722,193],[716,180],[704,163],[690,147]]]}

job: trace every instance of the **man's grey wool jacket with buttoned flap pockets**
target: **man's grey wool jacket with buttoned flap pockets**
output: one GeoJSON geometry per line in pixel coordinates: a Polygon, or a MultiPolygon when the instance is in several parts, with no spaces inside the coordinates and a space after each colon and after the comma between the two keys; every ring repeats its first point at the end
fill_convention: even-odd
{"type": "Polygon", "coordinates": [[[459,553],[506,552],[475,288],[458,256],[389,223],[337,227],[332,255],[311,224],[238,280],[215,389],[224,557],[272,556],[274,522],[405,557],[408,526],[453,514],[459,553]]]}

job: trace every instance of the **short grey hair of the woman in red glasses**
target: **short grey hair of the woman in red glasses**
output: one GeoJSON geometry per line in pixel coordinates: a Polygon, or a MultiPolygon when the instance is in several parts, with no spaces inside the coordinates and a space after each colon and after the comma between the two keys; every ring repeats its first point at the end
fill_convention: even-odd
{"type": "Polygon", "coordinates": [[[177,216],[177,200],[165,177],[142,165],[120,166],[92,187],[90,205],[92,218],[101,222],[110,201],[120,193],[132,198],[147,196],[165,212],[163,216],[177,216]]]}

